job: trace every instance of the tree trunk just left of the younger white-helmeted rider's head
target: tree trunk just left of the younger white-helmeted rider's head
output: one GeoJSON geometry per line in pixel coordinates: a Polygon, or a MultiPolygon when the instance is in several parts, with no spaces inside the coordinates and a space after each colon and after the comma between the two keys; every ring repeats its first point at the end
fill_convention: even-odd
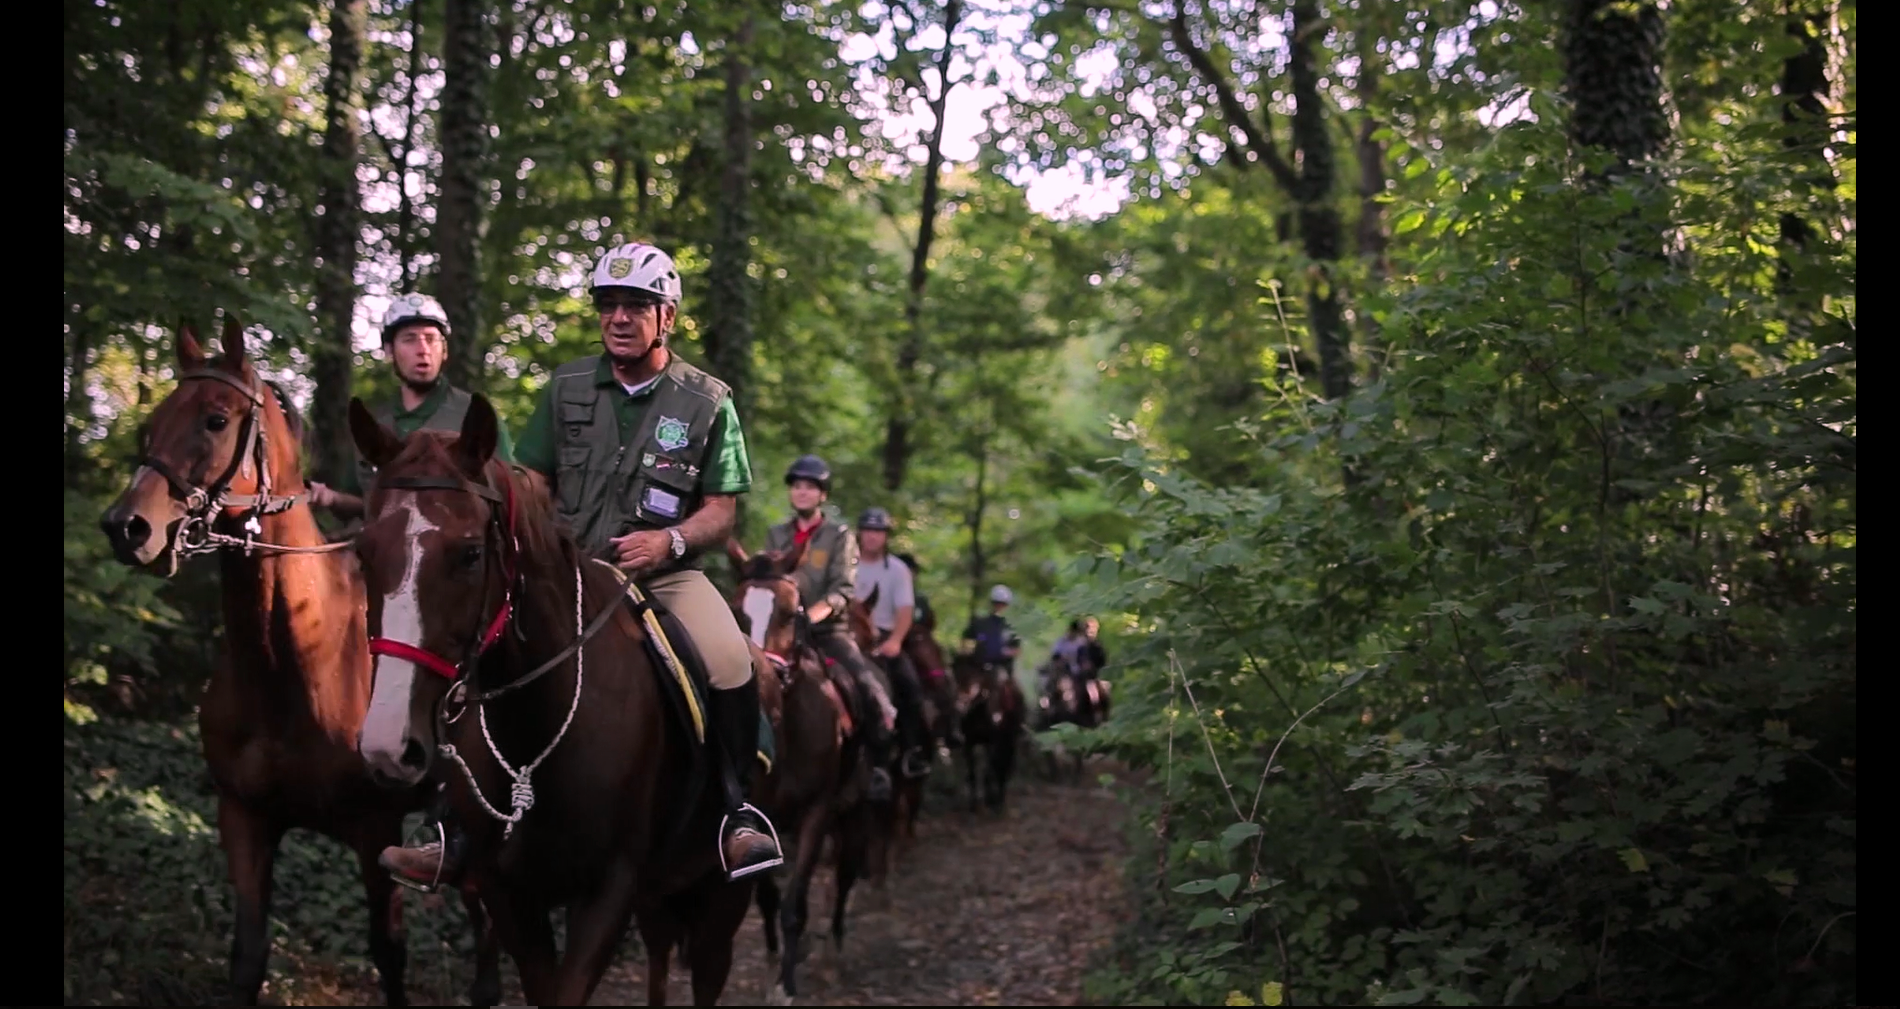
{"type": "Polygon", "coordinates": [[[355,466],[350,448],[350,331],[355,319],[357,239],[363,234],[363,201],[357,163],[363,137],[357,97],[363,72],[365,0],[336,0],[331,8],[331,72],[323,82],[325,125],[317,194],[317,334],[310,348],[312,433],[317,471],[338,479],[355,466]]]}

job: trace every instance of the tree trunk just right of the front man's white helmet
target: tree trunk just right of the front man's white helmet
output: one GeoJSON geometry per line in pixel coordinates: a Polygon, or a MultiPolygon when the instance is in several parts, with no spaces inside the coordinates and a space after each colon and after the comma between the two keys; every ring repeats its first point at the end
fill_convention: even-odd
{"type": "Polygon", "coordinates": [[[747,416],[752,371],[752,15],[726,42],[726,141],[707,304],[707,363],[747,416]]]}

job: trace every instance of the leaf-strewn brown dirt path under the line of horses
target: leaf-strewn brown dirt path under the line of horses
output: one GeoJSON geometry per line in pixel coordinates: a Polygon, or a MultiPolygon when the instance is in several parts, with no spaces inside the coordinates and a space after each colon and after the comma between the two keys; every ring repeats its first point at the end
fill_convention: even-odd
{"type": "MultiPolygon", "coordinates": [[[[942,771],[939,771],[942,773],[942,771]]],[[[851,891],[844,952],[828,939],[832,878],[811,885],[819,939],[800,1005],[1075,1005],[1089,954],[1121,914],[1123,808],[1098,787],[1022,781],[998,819],[946,809],[940,792],[885,889],[851,891]]],[[[815,933],[815,935],[813,935],[815,933]]],[[[760,1005],[777,975],[758,910],[739,929],[722,1005],[760,1005]]],[[[690,999],[673,969],[669,1001],[690,999]]],[[[597,1005],[646,1005],[646,965],[616,963],[597,1005]]]]}

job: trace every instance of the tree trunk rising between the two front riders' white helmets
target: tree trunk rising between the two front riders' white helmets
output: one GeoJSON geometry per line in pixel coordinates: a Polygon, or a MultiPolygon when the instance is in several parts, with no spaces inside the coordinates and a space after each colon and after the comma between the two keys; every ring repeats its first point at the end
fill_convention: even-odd
{"type": "Polygon", "coordinates": [[[443,196],[435,211],[441,274],[435,293],[448,312],[456,348],[448,380],[477,388],[486,369],[488,338],[481,317],[481,222],[488,162],[488,29],[486,4],[443,6],[443,196]]]}

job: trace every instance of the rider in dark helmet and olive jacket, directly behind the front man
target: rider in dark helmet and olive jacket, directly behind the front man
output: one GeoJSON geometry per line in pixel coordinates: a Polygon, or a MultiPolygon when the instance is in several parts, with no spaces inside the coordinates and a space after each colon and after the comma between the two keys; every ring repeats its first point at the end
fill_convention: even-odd
{"type": "Polygon", "coordinates": [[[897,709],[891,705],[882,671],[864,661],[846,623],[846,606],[857,595],[857,540],[851,536],[851,526],[825,517],[821,505],[830,496],[830,467],[825,460],[800,456],[785,471],[785,486],[792,517],[766,532],[766,549],[788,551],[800,543],[806,547],[804,559],[792,572],[798,602],[811,621],[813,644],[849,669],[861,686],[857,720],[868,737],[868,798],[889,802],[891,775],[885,768],[891,764],[891,728],[897,709]]]}

